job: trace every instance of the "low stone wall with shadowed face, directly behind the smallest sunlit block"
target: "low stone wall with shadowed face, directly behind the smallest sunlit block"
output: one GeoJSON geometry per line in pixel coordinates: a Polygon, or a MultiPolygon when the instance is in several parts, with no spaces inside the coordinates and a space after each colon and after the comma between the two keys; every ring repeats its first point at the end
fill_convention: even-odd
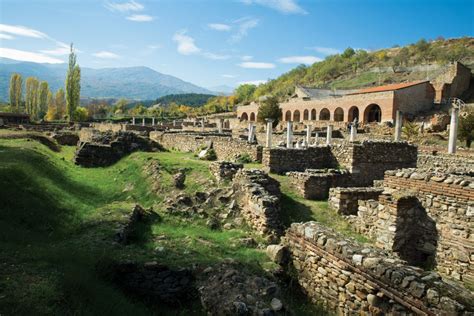
{"type": "Polygon", "coordinates": [[[305,172],[288,172],[290,183],[305,198],[323,200],[328,198],[330,188],[350,185],[350,174],[345,170],[321,169],[305,172]]]}

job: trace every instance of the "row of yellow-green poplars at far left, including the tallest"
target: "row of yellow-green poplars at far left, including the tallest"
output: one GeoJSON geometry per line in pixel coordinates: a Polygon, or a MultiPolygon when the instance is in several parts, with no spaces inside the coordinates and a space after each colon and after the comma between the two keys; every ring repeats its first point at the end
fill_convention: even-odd
{"type": "Polygon", "coordinates": [[[60,88],[53,94],[47,81],[28,77],[23,84],[22,76],[13,73],[10,77],[10,109],[29,114],[33,121],[80,120],[84,112],[79,106],[80,82],[81,69],[71,44],[65,88],[60,88]]]}

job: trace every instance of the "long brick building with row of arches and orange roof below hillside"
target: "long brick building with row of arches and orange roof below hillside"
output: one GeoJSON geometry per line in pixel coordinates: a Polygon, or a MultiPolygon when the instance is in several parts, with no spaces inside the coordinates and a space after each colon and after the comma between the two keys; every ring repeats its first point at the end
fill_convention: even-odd
{"type": "MultiPolygon", "coordinates": [[[[469,87],[469,68],[455,63],[433,82],[396,83],[360,90],[312,89],[302,86],[280,103],[281,121],[394,122],[396,111],[407,114],[430,110],[434,103],[458,97],[469,87]]],[[[256,121],[258,104],[239,106],[240,121],[256,121]]]]}

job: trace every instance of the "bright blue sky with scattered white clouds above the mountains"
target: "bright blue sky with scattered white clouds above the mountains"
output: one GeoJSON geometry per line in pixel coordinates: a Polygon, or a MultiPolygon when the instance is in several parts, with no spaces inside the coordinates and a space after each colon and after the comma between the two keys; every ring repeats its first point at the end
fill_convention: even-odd
{"type": "Polygon", "coordinates": [[[1,0],[0,57],[261,82],[350,46],[473,36],[473,0],[1,0]]]}

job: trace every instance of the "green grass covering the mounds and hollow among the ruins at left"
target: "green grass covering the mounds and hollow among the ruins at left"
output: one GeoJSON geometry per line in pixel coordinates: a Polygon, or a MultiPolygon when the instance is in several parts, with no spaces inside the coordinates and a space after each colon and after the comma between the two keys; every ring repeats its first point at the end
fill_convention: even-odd
{"type": "MultiPolygon", "coordinates": [[[[212,265],[232,259],[261,274],[275,268],[263,250],[236,239],[261,238],[241,227],[210,230],[204,219],[162,212],[178,170],[187,175],[185,193],[215,188],[208,162],[192,154],[137,152],[107,168],[72,162],[74,147],[53,152],[27,139],[0,140],[0,313],[5,315],[201,315],[199,302],[180,310],[145,306],[98,277],[103,260],[156,260],[173,268],[212,265]],[[160,165],[153,193],[144,166],[160,165]],[[137,242],[122,246],[113,236],[135,203],[153,207],[161,220],[143,224],[137,242]],[[162,248],[161,248],[162,247],[162,248]]],[[[304,299],[298,314],[315,309],[304,299]]]]}

